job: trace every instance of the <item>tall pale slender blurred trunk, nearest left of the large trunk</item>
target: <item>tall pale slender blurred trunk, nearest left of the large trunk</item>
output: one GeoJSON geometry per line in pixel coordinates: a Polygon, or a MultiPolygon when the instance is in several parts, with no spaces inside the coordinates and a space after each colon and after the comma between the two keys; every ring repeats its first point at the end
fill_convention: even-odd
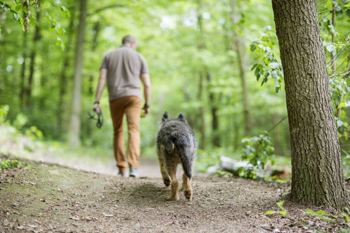
{"type": "Polygon", "coordinates": [[[245,61],[244,61],[244,40],[241,38],[241,35],[238,33],[237,26],[241,15],[238,15],[237,12],[237,0],[231,0],[231,20],[233,26],[233,44],[232,47],[237,52],[237,61],[239,68],[239,77],[241,79],[242,87],[242,99],[243,99],[243,117],[244,117],[244,136],[250,136],[251,134],[251,124],[250,124],[250,114],[249,114],[249,90],[247,86],[247,80],[245,76],[245,61]]]}

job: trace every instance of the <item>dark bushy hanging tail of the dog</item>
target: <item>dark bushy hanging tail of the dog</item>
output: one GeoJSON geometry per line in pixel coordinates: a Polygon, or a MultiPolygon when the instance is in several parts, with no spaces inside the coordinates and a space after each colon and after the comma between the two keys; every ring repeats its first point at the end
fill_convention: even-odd
{"type": "Polygon", "coordinates": [[[183,171],[191,179],[192,177],[192,161],[190,153],[189,137],[186,134],[178,133],[176,137],[173,138],[174,146],[176,148],[177,154],[180,157],[183,171]]]}

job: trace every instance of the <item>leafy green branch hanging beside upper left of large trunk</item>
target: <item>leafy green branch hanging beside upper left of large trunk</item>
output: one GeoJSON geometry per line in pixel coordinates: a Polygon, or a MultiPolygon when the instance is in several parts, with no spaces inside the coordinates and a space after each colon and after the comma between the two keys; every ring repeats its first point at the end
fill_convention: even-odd
{"type": "Polygon", "coordinates": [[[263,78],[261,86],[267,82],[269,78],[275,79],[275,92],[281,91],[281,83],[283,81],[283,69],[280,61],[273,53],[273,47],[277,43],[275,30],[271,26],[263,29],[260,37],[256,38],[250,44],[250,50],[255,52],[254,65],[251,70],[254,70],[254,75],[259,81],[263,78]]]}

